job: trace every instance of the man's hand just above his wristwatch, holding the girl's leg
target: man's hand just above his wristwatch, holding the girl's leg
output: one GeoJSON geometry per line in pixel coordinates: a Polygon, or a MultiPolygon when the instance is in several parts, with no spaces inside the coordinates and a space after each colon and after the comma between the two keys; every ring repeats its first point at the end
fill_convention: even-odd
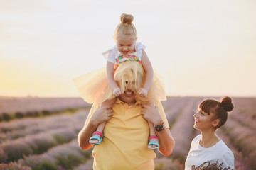
{"type": "Polygon", "coordinates": [[[163,122],[159,110],[152,100],[142,105],[141,113],[145,120],[148,120],[154,125],[159,125],[163,122]]]}

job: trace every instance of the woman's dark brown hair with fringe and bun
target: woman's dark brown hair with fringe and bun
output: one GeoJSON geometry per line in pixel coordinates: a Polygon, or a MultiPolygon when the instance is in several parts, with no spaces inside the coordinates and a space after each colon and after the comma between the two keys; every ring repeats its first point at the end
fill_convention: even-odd
{"type": "Polygon", "coordinates": [[[198,108],[202,109],[205,113],[213,113],[213,119],[220,120],[220,123],[215,129],[220,128],[228,119],[228,112],[232,111],[234,106],[230,97],[224,97],[221,101],[215,101],[213,99],[206,99],[202,101],[198,108]]]}

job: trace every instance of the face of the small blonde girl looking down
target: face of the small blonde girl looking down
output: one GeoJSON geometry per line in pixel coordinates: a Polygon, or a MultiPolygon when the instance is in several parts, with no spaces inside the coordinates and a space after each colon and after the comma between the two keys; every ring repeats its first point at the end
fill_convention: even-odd
{"type": "Polygon", "coordinates": [[[117,50],[121,52],[122,55],[135,52],[134,45],[136,40],[137,38],[135,38],[134,35],[123,35],[119,33],[116,39],[117,50]]]}

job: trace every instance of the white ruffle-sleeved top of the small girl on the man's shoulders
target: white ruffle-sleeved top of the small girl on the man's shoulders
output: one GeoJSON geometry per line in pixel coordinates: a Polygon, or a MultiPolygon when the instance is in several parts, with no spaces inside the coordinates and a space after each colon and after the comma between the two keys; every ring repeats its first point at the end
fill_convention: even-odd
{"type": "MultiPolygon", "coordinates": [[[[135,47],[135,52],[129,53],[129,55],[135,55],[136,57],[139,58],[139,61],[142,61],[142,49],[144,50],[146,46],[143,45],[141,42],[136,42],[134,47],[135,47]]],[[[110,50],[103,52],[103,56],[107,59],[107,61],[112,62],[114,64],[116,63],[117,58],[121,55],[122,53],[117,50],[117,45],[110,48],[110,50]]],[[[127,59],[126,58],[120,59],[119,62],[124,62],[122,60],[126,61],[127,59]]]]}

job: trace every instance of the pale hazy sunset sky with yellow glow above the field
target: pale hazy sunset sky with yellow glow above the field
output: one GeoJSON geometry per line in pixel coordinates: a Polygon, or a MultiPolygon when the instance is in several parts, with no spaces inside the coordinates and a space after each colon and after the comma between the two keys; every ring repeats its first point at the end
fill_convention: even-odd
{"type": "Polygon", "coordinates": [[[0,96],[78,97],[134,16],[168,96],[256,97],[254,0],[0,0],[0,96]]]}

